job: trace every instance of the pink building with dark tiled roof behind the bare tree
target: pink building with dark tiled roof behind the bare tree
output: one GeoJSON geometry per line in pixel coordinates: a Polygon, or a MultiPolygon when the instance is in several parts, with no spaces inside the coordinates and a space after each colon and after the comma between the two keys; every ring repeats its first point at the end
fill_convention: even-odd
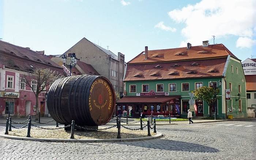
{"type": "MultiPolygon", "coordinates": [[[[18,116],[36,114],[33,91],[19,81],[20,75],[35,68],[51,68],[63,73],[63,69],[47,58],[43,51],[33,51],[0,41],[0,116],[8,114],[8,111],[18,116]]],[[[40,93],[38,102],[41,115],[48,115],[45,92],[40,93]]]]}

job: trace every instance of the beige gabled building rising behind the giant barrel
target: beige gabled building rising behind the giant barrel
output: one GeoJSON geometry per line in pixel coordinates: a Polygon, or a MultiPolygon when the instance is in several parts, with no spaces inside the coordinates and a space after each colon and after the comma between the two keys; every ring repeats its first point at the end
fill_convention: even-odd
{"type": "MultiPolygon", "coordinates": [[[[90,64],[100,75],[108,78],[116,93],[123,95],[124,54],[118,52],[117,56],[110,50],[104,49],[86,38],[81,39],[64,54],[66,57],[70,57],[71,53],[75,53],[78,60],[90,64]]],[[[62,56],[63,54],[59,58],[62,56]]]]}

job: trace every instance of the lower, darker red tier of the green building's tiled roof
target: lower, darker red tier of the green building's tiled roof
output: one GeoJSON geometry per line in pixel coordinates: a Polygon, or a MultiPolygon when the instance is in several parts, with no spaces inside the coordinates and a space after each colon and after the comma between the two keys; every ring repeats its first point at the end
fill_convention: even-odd
{"type": "Polygon", "coordinates": [[[159,62],[158,65],[161,66],[160,68],[155,68],[157,64],[151,63],[127,64],[124,81],[222,76],[226,60],[227,58],[215,58],[208,60],[159,62]]]}

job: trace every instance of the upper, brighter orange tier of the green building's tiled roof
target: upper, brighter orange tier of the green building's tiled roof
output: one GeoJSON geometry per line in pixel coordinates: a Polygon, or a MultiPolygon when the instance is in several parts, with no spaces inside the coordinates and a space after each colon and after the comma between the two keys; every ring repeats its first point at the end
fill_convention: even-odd
{"type": "Polygon", "coordinates": [[[144,52],[140,53],[127,64],[180,61],[195,58],[223,57],[228,55],[237,58],[223,44],[208,45],[208,47],[192,46],[190,49],[187,49],[187,47],[182,47],[173,49],[148,50],[147,60],[145,60],[145,55],[143,53],[144,52]]]}

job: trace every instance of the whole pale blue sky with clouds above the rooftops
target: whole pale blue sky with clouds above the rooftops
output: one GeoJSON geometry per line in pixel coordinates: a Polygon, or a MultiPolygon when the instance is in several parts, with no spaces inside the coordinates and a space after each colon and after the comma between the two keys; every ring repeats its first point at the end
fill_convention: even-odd
{"type": "Polygon", "coordinates": [[[224,44],[256,58],[254,0],[0,0],[0,38],[63,54],[83,37],[128,62],[148,50],[224,44]]]}

